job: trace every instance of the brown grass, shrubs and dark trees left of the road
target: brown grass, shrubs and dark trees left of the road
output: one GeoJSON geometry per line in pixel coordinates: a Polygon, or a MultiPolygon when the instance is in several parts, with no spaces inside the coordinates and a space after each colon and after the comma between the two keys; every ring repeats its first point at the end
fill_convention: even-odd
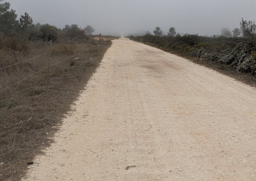
{"type": "Polygon", "coordinates": [[[63,115],[71,110],[116,37],[95,40],[91,26],[58,29],[33,24],[28,13],[18,19],[10,4],[1,2],[0,180],[19,180],[34,156],[52,143],[63,115]],[[49,54],[20,62],[49,53],[50,40],[53,53],[47,86],[49,54]]]}

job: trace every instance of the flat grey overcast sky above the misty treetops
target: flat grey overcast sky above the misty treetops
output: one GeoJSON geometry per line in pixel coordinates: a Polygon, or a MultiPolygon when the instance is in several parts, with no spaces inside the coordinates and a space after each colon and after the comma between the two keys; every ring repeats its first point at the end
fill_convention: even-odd
{"type": "Polygon", "coordinates": [[[220,34],[240,26],[242,17],[256,20],[256,0],[9,0],[18,17],[25,12],[34,23],[58,28],[77,24],[93,26],[95,34],[127,35],[163,32],[220,34]]]}

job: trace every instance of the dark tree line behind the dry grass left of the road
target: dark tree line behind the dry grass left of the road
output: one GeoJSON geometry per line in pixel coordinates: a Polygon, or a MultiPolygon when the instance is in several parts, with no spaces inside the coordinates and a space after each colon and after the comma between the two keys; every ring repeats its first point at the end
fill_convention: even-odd
{"type": "Polygon", "coordinates": [[[0,33],[8,36],[24,35],[29,40],[57,40],[59,36],[66,36],[69,38],[86,38],[91,36],[95,31],[94,28],[88,25],[81,29],[78,25],[66,25],[63,29],[58,29],[55,26],[39,23],[33,24],[33,19],[29,13],[25,12],[17,19],[16,11],[10,9],[10,3],[1,3],[0,0],[0,33]]]}

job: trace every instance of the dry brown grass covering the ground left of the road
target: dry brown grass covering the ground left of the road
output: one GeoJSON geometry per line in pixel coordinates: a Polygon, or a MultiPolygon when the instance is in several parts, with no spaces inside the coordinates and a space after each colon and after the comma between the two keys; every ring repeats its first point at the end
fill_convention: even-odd
{"type": "MultiPolygon", "coordinates": [[[[52,143],[52,135],[61,124],[63,115],[70,111],[70,106],[78,97],[80,90],[95,72],[104,52],[111,43],[95,41],[90,49],[89,44],[79,47],[72,53],[55,54],[52,63],[61,61],[70,54],[76,57],[51,67],[50,85],[46,86],[46,70],[32,78],[0,93],[0,180],[19,180],[41,149],[52,143]],[[78,58],[79,57],[79,58],[78,58]]],[[[70,44],[67,46],[73,46],[70,44]]],[[[64,48],[63,44],[55,45],[56,50],[64,48]]],[[[1,55],[10,64],[28,57],[44,53],[49,47],[35,46],[33,54],[1,55]]],[[[31,75],[45,67],[48,57],[26,62],[19,66],[0,71],[0,88],[31,75]]]]}

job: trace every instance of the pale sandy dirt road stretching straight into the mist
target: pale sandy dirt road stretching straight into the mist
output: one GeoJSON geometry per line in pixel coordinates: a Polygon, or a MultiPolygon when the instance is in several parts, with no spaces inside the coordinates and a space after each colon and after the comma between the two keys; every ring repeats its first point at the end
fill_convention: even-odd
{"type": "Polygon", "coordinates": [[[74,109],[26,180],[256,178],[256,90],[184,58],[114,40],[74,109]]]}

